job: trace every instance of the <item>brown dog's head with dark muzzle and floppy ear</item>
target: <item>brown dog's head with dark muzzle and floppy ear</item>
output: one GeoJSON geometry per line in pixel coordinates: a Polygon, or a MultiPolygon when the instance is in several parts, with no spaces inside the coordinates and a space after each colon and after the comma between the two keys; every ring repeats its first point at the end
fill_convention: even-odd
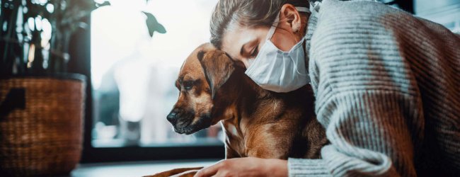
{"type": "Polygon", "coordinates": [[[228,55],[210,44],[192,52],[180,69],[176,81],[179,98],[167,116],[176,132],[190,135],[224,119],[215,114],[214,97],[234,70],[228,55]]]}

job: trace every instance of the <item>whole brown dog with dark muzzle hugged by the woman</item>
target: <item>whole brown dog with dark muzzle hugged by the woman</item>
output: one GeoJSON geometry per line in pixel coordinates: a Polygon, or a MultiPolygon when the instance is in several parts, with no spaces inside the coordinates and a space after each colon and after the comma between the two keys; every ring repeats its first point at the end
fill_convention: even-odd
{"type": "Polygon", "coordinates": [[[222,122],[226,159],[317,159],[328,142],[314,115],[310,86],[289,93],[263,90],[244,74],[241,64],[210,44],[201,45],[185,60],[176,87],[180,95],[168,115],[174,130],[190,135],[222,122]]]}

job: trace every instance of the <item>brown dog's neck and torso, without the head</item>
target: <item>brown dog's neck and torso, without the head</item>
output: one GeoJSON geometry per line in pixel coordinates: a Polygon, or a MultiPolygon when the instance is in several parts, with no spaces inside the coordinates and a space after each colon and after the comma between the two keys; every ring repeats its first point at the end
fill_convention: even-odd
{"type": "MultiPolygon", "coordinates": [[[[311,128],[306,128],[306,126],[321,127],[319,124],[311,123],[312,120],[316,121],[313,100],[314,96],[309,86],[289,93],[266,91],[246,76],[243,69],[236,69],[226,83],[219,88],[213,100],[212,118],[213,120],[222,120],[226,134],[226,157],[251,156],[248,154],[251,153],[248,152],[248,148],[251,149],[251,144],[247,143],[253,142],[253,138],[260,137],[260,130],[270,131],[272,126],[283,126],[284,123],[280,123],[280,120],[286,121],[288,119],[289,122],[297,122],[296,124],[299,126],[287,125],[297,128],[292,132],[314,132],[311,128]]],[[[277,128],[279,130],[280,127],[277,128]]],[[[294,149],[289,150],[289,155],[305,157],[307,144],[315,144],[315,142],[307,143],[307,137],[301,137],[306,136],[306,134],[292,136],[297,136],[291,137],[297,145],[292,147],[294,149]]],[[[282,151],[283,149],[278,150],[282,151]]],[[[274,152],[287,155],[277,150],[274,152]]],[[[308,157],[315,156],[317,154],[308,157]]],[[[271,157],[284,158],[285,156],[271,157]]]]}

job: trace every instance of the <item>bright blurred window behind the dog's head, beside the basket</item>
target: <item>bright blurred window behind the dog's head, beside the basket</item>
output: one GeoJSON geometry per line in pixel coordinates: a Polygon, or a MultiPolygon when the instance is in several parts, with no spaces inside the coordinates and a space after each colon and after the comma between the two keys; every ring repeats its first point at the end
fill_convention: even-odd
{"type": "Polygon", "coordinates": [[[125,154],[127,160],[139,160],[129,154],[144,152],[151,159],[141,159],[154,160],[176,158],[184,147],[189,151],[205,147],[214,155],[193,156],[223,158],[219,124],[193,135],[179,135],[166,120],[178,98],[174,82],[183,61],[209,41],[209,19],[216,1],[110,0],[110,4],[91,14],[93,118],[87,149],[105,156],[125,154]],[[153,14],[167,32],[151,37],[143,11],[153,14]],[[107,154],[110,151],[115,154],[107,154]]]}

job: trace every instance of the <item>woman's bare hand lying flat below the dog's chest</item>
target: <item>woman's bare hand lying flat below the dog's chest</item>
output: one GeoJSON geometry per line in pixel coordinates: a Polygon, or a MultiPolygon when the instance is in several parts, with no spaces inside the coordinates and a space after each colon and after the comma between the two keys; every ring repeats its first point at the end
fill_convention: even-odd
{"type": "Polygon", "coordinates": [[[255,157],[222,160],[195,174],[207,176],[287,176],[287,161],[255,157]]]}

